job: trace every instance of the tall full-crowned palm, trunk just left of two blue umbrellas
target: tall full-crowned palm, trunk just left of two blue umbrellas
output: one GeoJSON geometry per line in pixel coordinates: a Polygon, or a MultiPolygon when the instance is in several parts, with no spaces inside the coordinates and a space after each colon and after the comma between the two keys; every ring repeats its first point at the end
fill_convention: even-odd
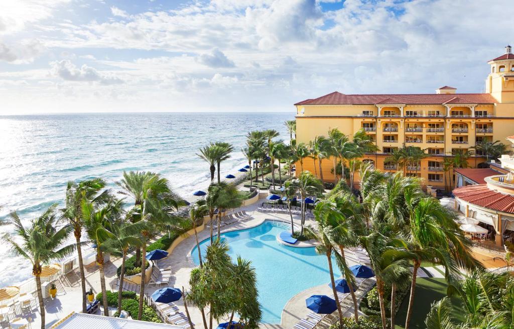
{"type": "Polygon", "coordinates": [[[123,172],[123,178],[117,183],[122,191],[120,193],[131,196],[135,200],[134,206],[140,213],[140,221],[144,226],[141,229],[141,286],[139,289],[138,320],[143,312],[144,286],[146,284],[145,257],[146,244],[153,232],[174,225],[178,222],[175,216],[169,214],[172,209],[184,205],[182,198],[169,186],[168,179],[152,172],[123,172]]]}

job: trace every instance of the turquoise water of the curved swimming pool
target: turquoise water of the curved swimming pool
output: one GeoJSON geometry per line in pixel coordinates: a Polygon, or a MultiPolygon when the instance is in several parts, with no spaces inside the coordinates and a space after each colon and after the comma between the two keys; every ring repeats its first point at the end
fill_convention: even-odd
{"type": "MultiPolygon", "coordinates": [[[[222,239],[230,247],[230,256],[235,259],[240,254],[255,267],[264,323],[280,324],[282,310],[291,297],[330,282],[325,255],[317,254],[314,247],[295,248],[277,242],[277,235],[288,229],[290,226],[285,223],[265,221],[253,228],[222,233],[222,239]]],[[[202,241],[200,249],[205,251],[209,244],[209,239],[202,241]]],[[[199,264],[196,247],[191,255],[195,264],[199,264]]],[[[334,275],[341,275],[337,266],[334,275]]]]}

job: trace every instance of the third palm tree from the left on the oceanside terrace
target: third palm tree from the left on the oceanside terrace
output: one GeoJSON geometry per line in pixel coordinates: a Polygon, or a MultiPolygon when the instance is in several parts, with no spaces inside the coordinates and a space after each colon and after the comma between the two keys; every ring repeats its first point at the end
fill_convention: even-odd
{"type": "Polygon", "coordinates": [[[105,227],[108,222],[116,222],[122,213],[122,200],[113,199],[107,205],[100,209],[95,209],[94,205],[87,200],[82,201],[82,220],[89,240],[96,245],[96,263],[100,270],[100,287],[102,289],[103,312],[106,317],[109,316],[109,305],[107,303],[107,289],[105,287],[105,271],[104,271],[104,252],[110,251],[108,244],[103,243],[112,237],[105,234],[105,227]]]}

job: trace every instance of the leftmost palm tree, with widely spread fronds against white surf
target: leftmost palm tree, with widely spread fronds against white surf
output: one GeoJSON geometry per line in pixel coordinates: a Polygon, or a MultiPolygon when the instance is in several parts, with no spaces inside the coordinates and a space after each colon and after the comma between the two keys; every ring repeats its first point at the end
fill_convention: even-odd
{"type": "Polygon", "coordinates": [[[35,277],[36,291],[41,314],[41,329],[45,329],[45,304],[41,290],[42,266],[52,260],[62,259],[71,254],[75,244],[66,245],[66,240],[73,228],[63,226],[57,229],[57,205],[50,206],[40,217],[32,220],[30,227],[25,228],[16,212],[10,214],[14,225],[13,234],[4,233],[2,241],[11,247],[14,254],[25,258],[32,264],[32,275],[35,277]],[[15,241],[14,236],[21,241],[15,241]]]}

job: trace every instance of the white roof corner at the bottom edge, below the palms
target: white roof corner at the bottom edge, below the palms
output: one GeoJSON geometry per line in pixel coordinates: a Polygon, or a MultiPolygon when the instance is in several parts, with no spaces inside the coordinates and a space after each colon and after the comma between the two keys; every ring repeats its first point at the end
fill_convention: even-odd
{"type": "Polygon", "coordinates": [[[128,320],[120,318],[108,318],[101,315],[84,313],[72,313],[60,322],[56,323],[51,329],[173,329],[182,328],[178,325],[128,320]]]}

